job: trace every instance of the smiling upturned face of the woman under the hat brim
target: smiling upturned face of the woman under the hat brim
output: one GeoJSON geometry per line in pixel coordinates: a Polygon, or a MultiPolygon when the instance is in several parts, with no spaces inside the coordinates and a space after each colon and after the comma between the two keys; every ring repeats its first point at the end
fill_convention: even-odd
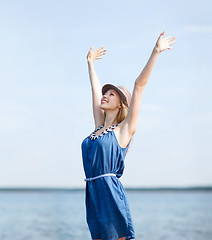
{"type": "Polygon", "coordinates": [[[121,100],[119,94],[114,89],[109,89],[102,96],[101,109],[103,110],[115,110],[121,108],[121,100]]]}

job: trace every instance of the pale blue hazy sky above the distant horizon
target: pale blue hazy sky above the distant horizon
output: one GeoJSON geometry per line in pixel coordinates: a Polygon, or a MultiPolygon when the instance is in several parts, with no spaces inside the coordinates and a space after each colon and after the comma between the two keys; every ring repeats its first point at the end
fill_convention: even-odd
{"type": "Polygon", "coordinates": [[[86,55],[131,92],[159,34],[175,36],[144,89],[125,187],[212,185],[210,0],[0,0],[0,187],[84,187],[95,128],[86,55]]]}

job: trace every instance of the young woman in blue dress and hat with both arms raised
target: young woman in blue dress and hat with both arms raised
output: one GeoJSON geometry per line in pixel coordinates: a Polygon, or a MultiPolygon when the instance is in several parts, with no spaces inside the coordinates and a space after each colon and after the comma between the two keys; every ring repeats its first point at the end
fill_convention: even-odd
{"type": "Polygon", "coordinates": [[[156,59],[171,49],[175,37],[161,33],[152,54],[134,83],[133,94],[123,87],[101,88],[94,61],[106,53],[103,47],[88,55],[95,130],[82,142],[86,175],[86,219],[95,240],[134,239],[135,233],[125,190],[119,181],[124,159],[138,123],[141,97],[156,59]]]}

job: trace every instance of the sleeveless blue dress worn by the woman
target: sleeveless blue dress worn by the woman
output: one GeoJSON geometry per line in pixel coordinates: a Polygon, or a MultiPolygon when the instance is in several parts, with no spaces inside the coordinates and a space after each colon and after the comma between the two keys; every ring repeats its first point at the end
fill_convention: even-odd
{"type": "Polygon", "coordinates": [[[86,178],[116,175],[86,182],[86,220],[92,239],[135,238],[128,200],[119,180],[130,143],[126,148],[120,147],[113,131],[116,126],[95,137],[94,133],[103,126],[97,128],[81,145],[86,178]]]}

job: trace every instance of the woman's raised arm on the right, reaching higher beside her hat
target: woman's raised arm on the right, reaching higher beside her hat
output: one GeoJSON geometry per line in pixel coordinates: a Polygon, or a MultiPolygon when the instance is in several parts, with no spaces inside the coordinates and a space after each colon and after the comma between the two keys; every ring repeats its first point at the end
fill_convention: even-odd
{"type": "Polygon", "coordinates": [[[142,70],[142,72],[135,81],[128,115],[123,121],[121,129],[122,133],[120,132],[122,136],[125,135],[126,139],[129,139],[136,131],[143,90],[147,84],[147,81],[149,79],[149,76],[152,72],[152,69],[155,65],[158,56],[162,51],[166,49],[172,49],[171,45],[175,43],[175,41],[173,41],[175,37],[169,36],[163,38],[164,34],[165,31],[160,34],[146,66],[144,67],[144,69],[142,70]],[[125,132],[125,134],[123,134],[123,132],[125,132]]]}

